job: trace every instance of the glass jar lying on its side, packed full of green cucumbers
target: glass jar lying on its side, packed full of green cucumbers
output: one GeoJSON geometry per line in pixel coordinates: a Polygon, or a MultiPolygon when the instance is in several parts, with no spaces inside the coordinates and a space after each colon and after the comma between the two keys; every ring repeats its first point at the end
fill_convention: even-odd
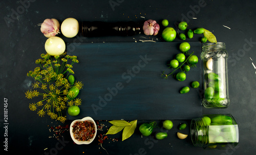
{"type": "Polygon", "coordinates": [[[204,149],[232,149],[239,143],[238,124],[230,114],[192,119],[190,136],[194,146],[204,149]]]}

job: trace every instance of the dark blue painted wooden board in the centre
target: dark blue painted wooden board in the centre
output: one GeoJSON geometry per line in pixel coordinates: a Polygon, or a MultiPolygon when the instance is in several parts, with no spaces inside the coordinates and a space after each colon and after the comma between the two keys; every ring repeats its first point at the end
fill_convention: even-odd
{"type": "Polygon", "coordinates": [[[80,114],[67,115],[67,119],[184,120],[202,116],[200,88],[179,93],[183,86],[202,81],[201,43],[189,43],[199,63],[185,81],[161,77],[162,71],[173,70],[167,63],[180,53],[180,42],[70,43],[68,54],[79,60],[73,65],[74,76],[84,86],[78,95],[80,114]]]}

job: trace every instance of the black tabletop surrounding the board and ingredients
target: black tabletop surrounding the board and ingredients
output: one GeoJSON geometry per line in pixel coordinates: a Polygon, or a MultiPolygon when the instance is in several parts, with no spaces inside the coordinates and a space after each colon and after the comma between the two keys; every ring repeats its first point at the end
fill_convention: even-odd
{"type": "MultiPolygon", "coordinates": [[[[47,38],[41,34],[38,24],[46,18],[56,18],[60,23],[68,17],[79,21],[144,21],[155,19],[158,23],[166,18],[169,26],[175,22],[187,21],[189,28],[203,27],[226,43],[229,53],[228,78],[230,106],[226,109],[205,109],[203,114],[232,114],[239,125],[239,145],[231,150],[203,150],[194,147],[189,138],[176,137],[177,126],[190,120],[174,120],[174,128],[168,131],[168,138],[156,141],[152,137],[141,138],[138,128],[135,134],[121,142],[120,135],[109,136],[102,146],[109,154],[254,154],[256,151],[255,121],[255,78],[256,78],[256,32],[255,4],[248,1],[1,1],[0,2],[0,137],[4,144],[4,98],[8,99],[8,152],[1,146],[1,154],[107,154],[94,141],[91,145],[73,144],[69,132],[57,140],[49,138],[51,126],[63,125],[49,117],[41,118],[28,108],[36,102],[25,98],[25,92],[32,88],[33,79],[27,72],[37,67],[35,60],[45,53],[47,38]],[[24,3],[26,2],[26,4],[24,3]],[[227,27],[224,27],[227,26],[227,27]],[[230,29],[229,29],[230,28],[230,29]],[[110,138],[118,138],[113,142],[110,138]]],[[[163,28],[160,28],[163,30],[163,28]]],[[[75,37],[65,42],[141,42],[154,40],[162,42],[161,34],[131,37],[75,37]]],[[[196,35],[188,41],[199,41],[196,35]]],[[[175,42],[181,40],[177,37],[175,42]]],[[[149,114],[150,115],[150,114],[149,114]]],[[[128,121],[128,120],[127,120],[128,121]]],[[[148,120],[139,120],[138,126],[148,120]]],[[[161,126],[162,120],[157,120],[161,126]]],[[[64,125],[71,123],[67,121],[64,125]]],[[[105,124],[103,134],[110,127],[105,124]]],[[[156,129],[159,131],[161,128],[156,129]]],[[[184,131],[188,133],[188,130],[184,131]]]]}

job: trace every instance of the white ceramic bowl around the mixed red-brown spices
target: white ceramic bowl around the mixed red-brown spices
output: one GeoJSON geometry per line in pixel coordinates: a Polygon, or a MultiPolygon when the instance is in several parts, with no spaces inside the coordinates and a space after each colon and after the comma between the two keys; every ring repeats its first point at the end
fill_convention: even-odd
{"type": "Polygon", "coordinates": [[[70,136],[71,136],[72,140],[73,140],[76,144],[79,144],[79,145],[80,145],[80,144],[90,144],[90,143],[93,142],[93,140],[95,139],[96,135],[97,135],[97,126],[96,126],[95,121],[94,121],[91,117],[84,117],[84,118],[82,118],[82,119],[80,119],[80,120],[74,120],[74,121],[70,124],[70,136]],[[94,124],[94,126],[95,126],[95,134],[94,134],[93,138],[90,139],[90,141],[78,141],[78,140],[76,140],[76,139],[74,138],[73,132],[72,132],[72,130],[73,130],[73,127],[72,127],[72,126],[74,125],[75,122],[78,122],[78,121],[90,121],[90,122],[93,122],[93,124],[94,124]]]}

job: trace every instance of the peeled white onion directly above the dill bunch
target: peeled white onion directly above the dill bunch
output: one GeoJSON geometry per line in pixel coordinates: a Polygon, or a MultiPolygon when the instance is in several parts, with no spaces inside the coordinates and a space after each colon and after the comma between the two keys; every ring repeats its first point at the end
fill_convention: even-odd
{"type": "Polygon", "coordinates": [[[46,52],[50,55],[56,56],[65,52],[65,42],[57,36],[50,37],[45,43],[46,52]]]}

